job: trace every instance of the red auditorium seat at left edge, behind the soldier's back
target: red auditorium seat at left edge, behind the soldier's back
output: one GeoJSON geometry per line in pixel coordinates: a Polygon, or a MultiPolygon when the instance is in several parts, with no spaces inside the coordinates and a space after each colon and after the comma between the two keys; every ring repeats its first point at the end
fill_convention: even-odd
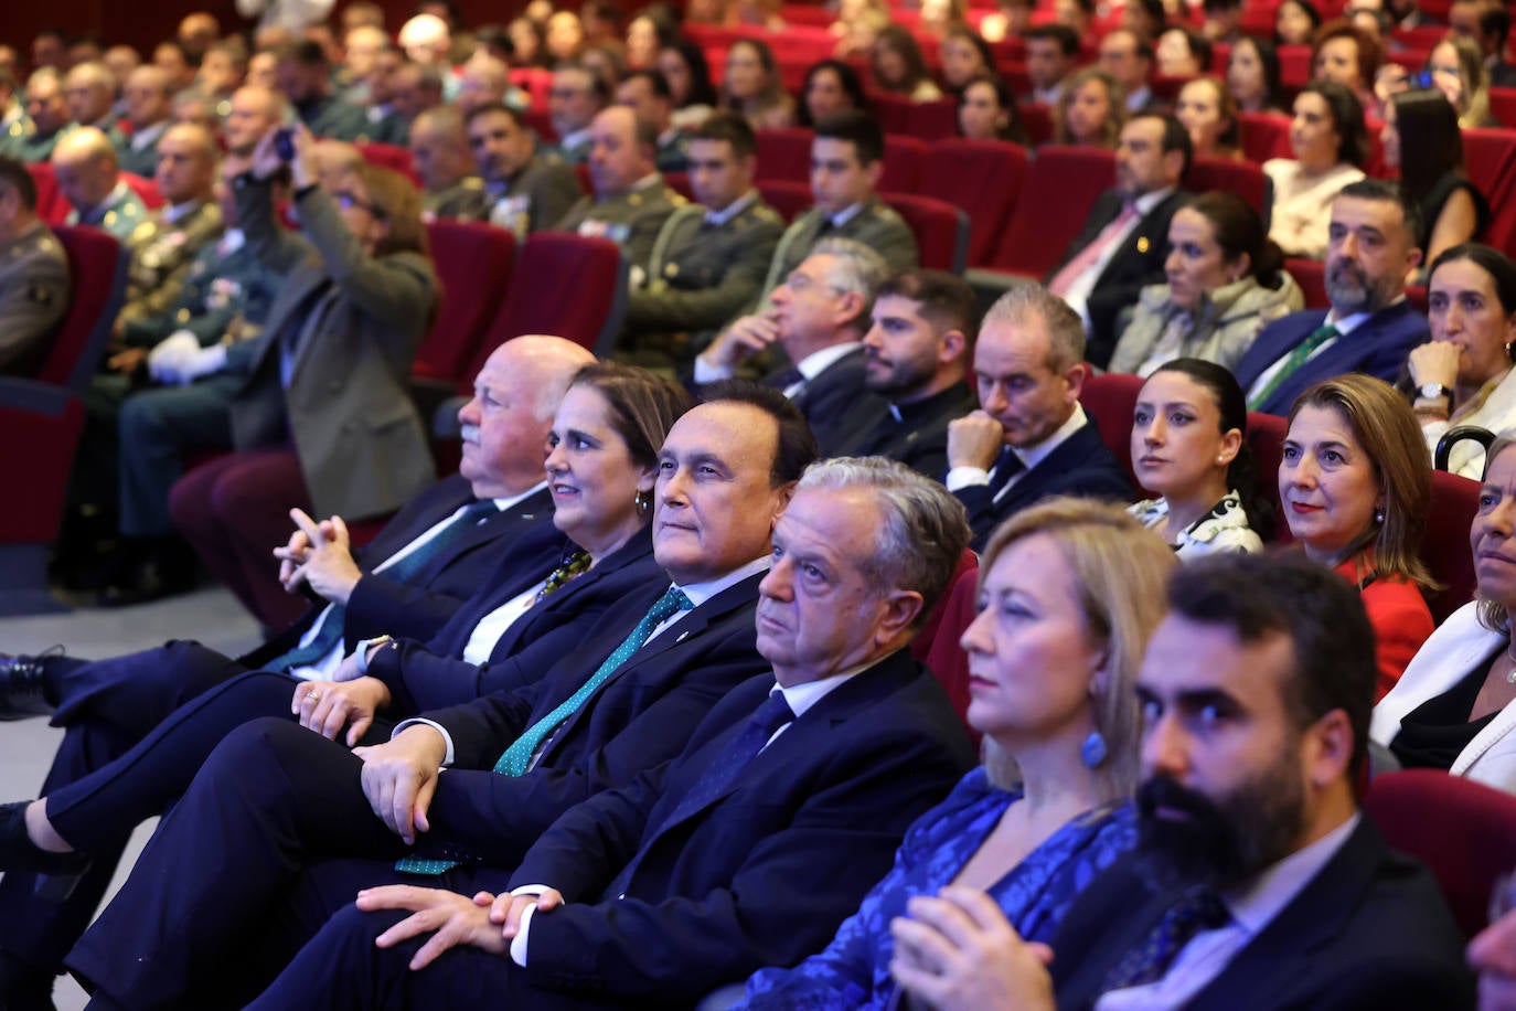
{"type": "Polygon", "coordinates": [[[127,256],[115,238],[91,227],[56,232],[74,285],[68,312],[35,377],[0,377],[0,473],[24,474],[24,494],[0,505],[0,614],[62,609],[47,591],[47,547],[85,421],[82,396],[126,293],[127,256]]]}

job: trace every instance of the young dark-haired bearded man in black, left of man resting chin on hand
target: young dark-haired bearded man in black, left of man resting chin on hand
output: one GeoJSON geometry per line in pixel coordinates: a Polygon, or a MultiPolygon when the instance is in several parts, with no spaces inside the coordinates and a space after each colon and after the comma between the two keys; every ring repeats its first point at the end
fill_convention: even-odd
{"type": "Polygon", "coordinates": [[[973,411],[964,382],[979,332],[973,290],[941,270],[907,270],[884,282],[863,336],[864,387],[885,399],[878,414],[849,411],[854,435],[838,456],[888,456],[932,479],[948,470],[948,423],[973,411]],[[872,423],[870,423],[872,420],[872,423]]]}

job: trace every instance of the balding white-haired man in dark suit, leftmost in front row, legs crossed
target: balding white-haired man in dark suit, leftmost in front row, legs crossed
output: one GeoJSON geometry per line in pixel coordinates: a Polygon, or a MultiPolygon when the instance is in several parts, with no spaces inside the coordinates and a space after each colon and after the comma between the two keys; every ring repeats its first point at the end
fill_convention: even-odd
{"type": "MultiPolygon", "coordinates": [[[[461,473],[406,505],[356,559],[341,520],[302,520],[279,549],[282,577],[318,606],[247,656],[230,659],[177,640],[99,662],[6,658],[0,700],[15,712],[18,703],[41,696],[59,706],[53,723],[67,728],[42,794],[108,767],[179,705],[240,673],[271,668],[293,678],[329,678],[359,640],[381,634],[431,638],[500,555],[534,529],[550,531],[541,446],[570,377],[591,361],[562,338],[517,338],[496,350],[479,373],[475,402],[461,412],[461,473]],[[465,517],[476,502],[494,505],[493,515],[465,517]],[[476,526],[443,544],[438,538],[456,523],[476,526]],[[440,550],[429,550],[429,543],[440,550]],[[424,562],[406,565],[406,556],[424,562]]],[[[92,864],[76,884],[50,887],[45,878],[21,872],[0,879],[0,1003],[52,990],[64,955],[111,882],[129,831],[91,847],[92,864]],[[39,885],[44,891],[71,888],[71,894],[39,897],[39,885]]]]}

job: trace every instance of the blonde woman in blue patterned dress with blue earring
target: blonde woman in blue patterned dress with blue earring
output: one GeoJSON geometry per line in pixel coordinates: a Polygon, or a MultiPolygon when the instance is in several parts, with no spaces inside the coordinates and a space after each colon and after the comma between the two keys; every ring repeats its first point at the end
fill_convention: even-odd
{"type": "Polygon", "coordinates": [[[963,634],[984,764],[905,835],[825,952],[747,981],[741,1008],[887,1008],[890,920],[943,885],[985,891],[1028,941],[1134,840],[1132,682],[1173,552],[1117,506],[1057,499],[1008,520],[963,634]]]}

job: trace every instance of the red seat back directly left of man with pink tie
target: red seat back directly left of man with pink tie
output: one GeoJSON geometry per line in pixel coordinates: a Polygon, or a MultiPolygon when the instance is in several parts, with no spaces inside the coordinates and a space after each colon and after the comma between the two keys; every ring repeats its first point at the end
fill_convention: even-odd
{"type": "Polygon", "coordinates": [[[1041,147],[1001,236],[994,267],[1032,277],[1046,274],[1079,233],[1084,212],[1114,179],[1114,152],[1041,147]]]}

